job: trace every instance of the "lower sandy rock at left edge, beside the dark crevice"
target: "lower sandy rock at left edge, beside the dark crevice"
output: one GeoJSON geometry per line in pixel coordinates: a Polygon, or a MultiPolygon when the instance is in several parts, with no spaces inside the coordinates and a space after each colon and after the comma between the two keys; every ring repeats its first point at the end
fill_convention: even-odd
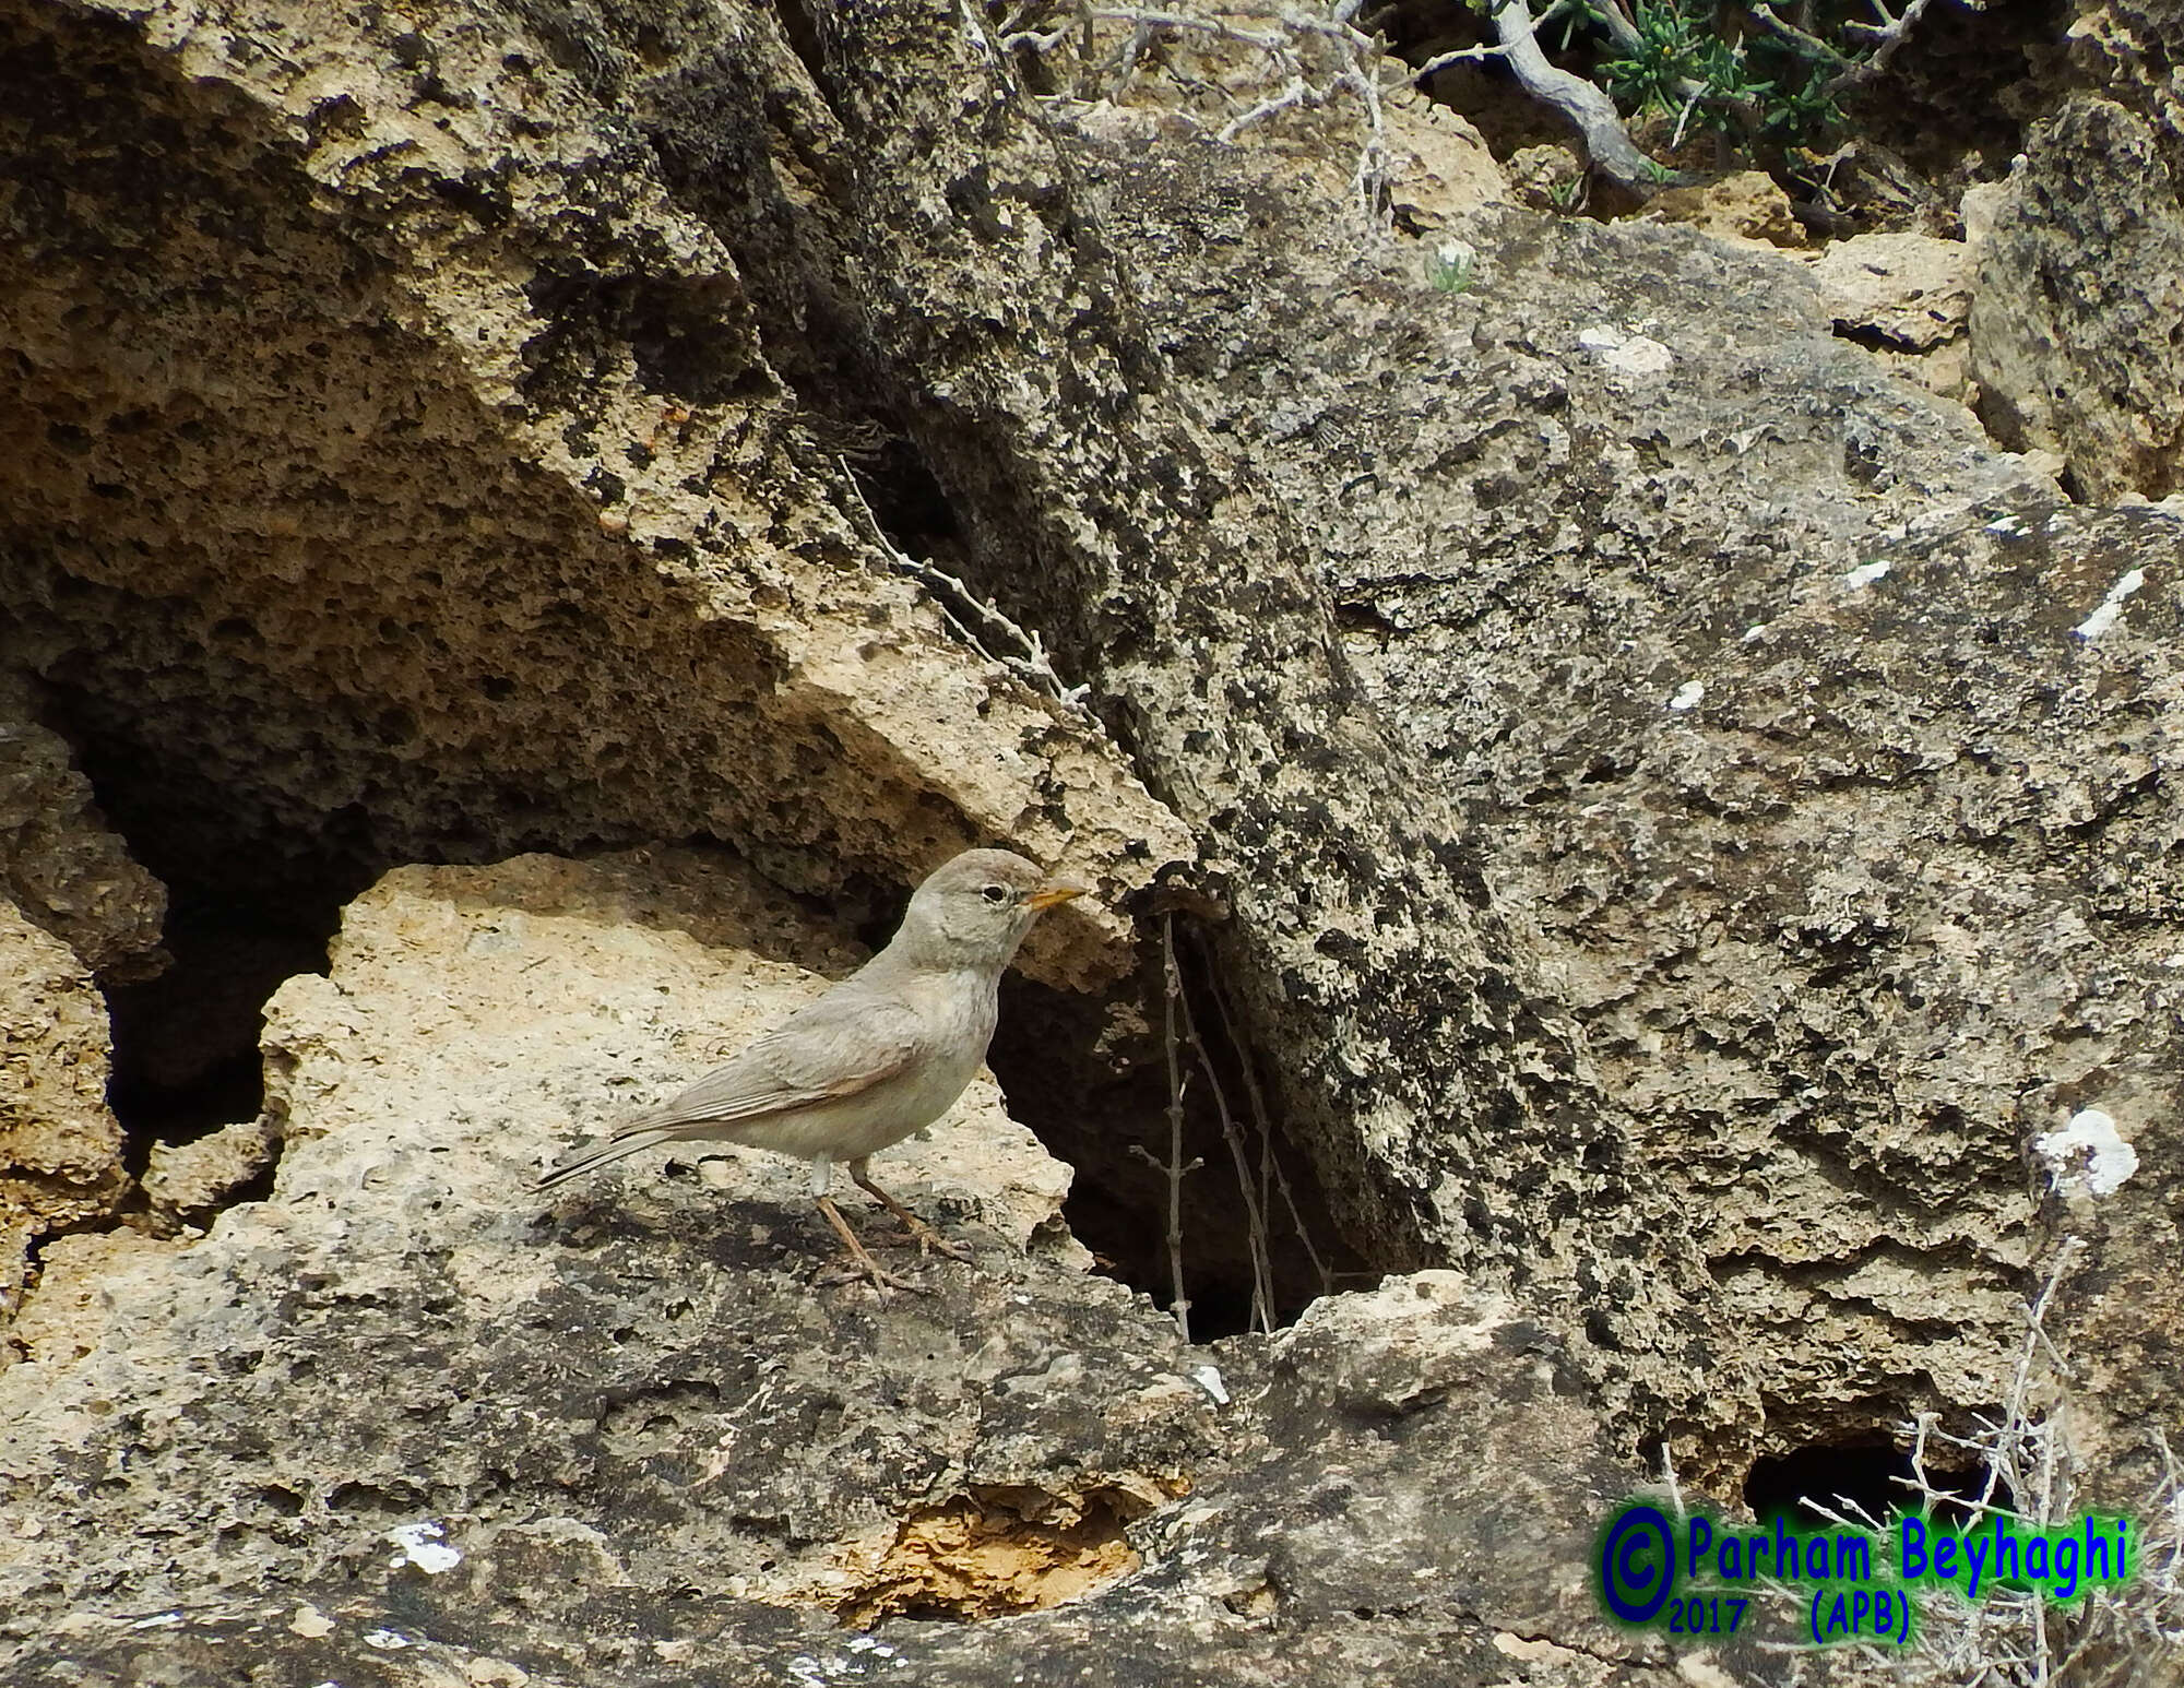
{"type": "Polygon", "coordinates": [[[37,1238],[111,1214],[127,1188],[105,998],[66,943],[0,902],[0,1312],[37,1238]]]}

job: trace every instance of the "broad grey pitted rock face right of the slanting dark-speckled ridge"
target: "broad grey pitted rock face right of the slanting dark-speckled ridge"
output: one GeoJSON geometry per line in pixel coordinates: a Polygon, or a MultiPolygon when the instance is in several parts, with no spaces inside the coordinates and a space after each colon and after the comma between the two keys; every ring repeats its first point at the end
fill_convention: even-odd
{"type": "MultiPolygon", "coordinates": [[[[1278,476],[1356,673],[1629,1109],[1640,1205],[1749,1336],[1717,1391],[1754,1391],[1771,1448],[1970,1428],[2027,1273],[2086,1223],[2105,1253],[2057,1328],[2101,1376],[2134,1356],[2088,1441],[2147,1478],[2147,1402],[2184,1382],[2136,1295],[2167,1157],[2066,1216],[2027,1149],[2110,1101],[2173,1140],[2177,524],[2070,511],[1780,258],[1487,207],[1446,295],[1334,242],[1269,269],[1245,197],[1188,236],[1112,203],[1164,240],[1177,367],[1278,476]]],[[[1476,1153],[1524,1186],[1507,1131],[1476,1153]]]]}

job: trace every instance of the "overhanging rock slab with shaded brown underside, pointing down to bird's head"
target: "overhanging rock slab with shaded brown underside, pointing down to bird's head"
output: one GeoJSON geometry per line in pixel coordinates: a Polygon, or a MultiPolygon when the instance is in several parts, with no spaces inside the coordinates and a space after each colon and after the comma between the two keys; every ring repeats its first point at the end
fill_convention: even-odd
{"type": "MultiPolygon", "coordinates": [[[[889,570],[762,277],[574,44],[258,28],[0,17],[9,651],[175,871],[710,834],[836,893],[987,839],[1179,849],[889,570]]],[[[1112,976],[1114,932],[1053,976],[1112,976]]]]}

